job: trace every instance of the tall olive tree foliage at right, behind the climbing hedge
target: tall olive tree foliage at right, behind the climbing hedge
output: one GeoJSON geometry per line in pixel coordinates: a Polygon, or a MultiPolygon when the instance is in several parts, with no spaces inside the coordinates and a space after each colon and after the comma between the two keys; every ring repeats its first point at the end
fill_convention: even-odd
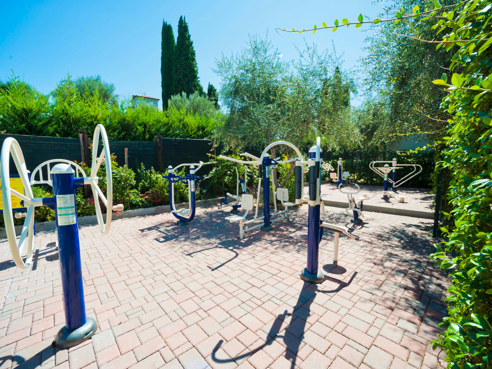
{"type": "MultiPolygon", "coordinates": [[[[442,5],[451,4],[442,0],[442,5]]],[[[453,2],[454,3],[454,2],[453,2]]],[[[379,15],[381,19],[395,16],[403,9],[432,9],[433,0],[397,0],[379,15]]],[[[385,142],[397,140],[396,134],[426,132],[433,139],[444,135],[449,114],[440,108],[445,92],[431,81],[449,68],[451,55],[445,48],[436,50],[435,44],[416,42],[402,34],[426,40],[435,39],[432,19],[409,18],[404,22],[372,24],[372,35],[366,38],[367,57],[361,60],[365,69],[364,85],[369,96],[378,93],[377,101],[385,101],[390,119],[375,123],[376,136],[386,134],[385,142]]],[[[372,99],[369,97],[369,101],[372,99]]],[[[386,118],[386,117],[383,117],[386,118]]]]}

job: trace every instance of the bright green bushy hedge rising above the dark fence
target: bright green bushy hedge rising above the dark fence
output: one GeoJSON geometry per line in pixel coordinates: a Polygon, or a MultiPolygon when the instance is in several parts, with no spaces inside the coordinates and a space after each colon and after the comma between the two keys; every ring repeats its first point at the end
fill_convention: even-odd
{"type": "Polygon", "coordinates": [[[166,111],[150,104],[133,107],[129,99],[118,104],[114,86],[99,76],[75,81],[67,76],[48,95],[15,75],[0,85],[2,133],[78,137],[78,130],[85,129],[91,136],[102,123],[111,140],[152,141],[156,135],[203,139],[223,120],[213,102],[198,96],[186,100],[182,108],[172,106],[166,111]]]}

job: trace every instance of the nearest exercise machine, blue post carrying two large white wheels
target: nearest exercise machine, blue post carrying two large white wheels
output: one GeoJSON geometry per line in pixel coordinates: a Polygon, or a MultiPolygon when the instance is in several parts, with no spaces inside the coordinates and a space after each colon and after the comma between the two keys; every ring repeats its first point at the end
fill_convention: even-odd
{"type": "MultiPolygon", "coordinates": [[[[111,226],[112,211],[123,210],[123,205],[113,206],[113,183],[111,171],[111,152],[109,150],[108,137],[101,124],[94,129],[92,141],[92,166],[91,176],[86,177],[84,171],[76,163],[68,160],[48,160],[40,164],[32,173],[31,181],[24,155],[19,143],[13,137],[7,137],[3,141],[0,154],[0,182],[1,196],[3,201],[3,217],[5,222],[5,232],[7,234],[8,244],[12,252],[12,258],[18,268],[27,270],[32,262],[33,246],[33,226],[34,226],[34,208],[36,206],[48,206],[55,211],[57,236],[59,245],[60,273],[62,276],[62,293],[63,306],[65,311],[65,326],[58,332],[55,338],[55,345],[60,348],[73,347],[81,342],[91,338],[97,330],[97,323],[90,317],[86,316],[84,288],[82,281],[82,266],[80,260],[79,230],[77,223],[77,209],[75,205],[75,190],[83,184],[90,184],[94,195],[94,205],[96,211],[97,223],[102,234],[107,235],[111,226]],[[103,150],[97,157],[97,147],[99,143],[99,134],[103,142],[103,150]],[[10,155],[17,168],[22,184],[24,194],[19,193],[10,186],[10,155]],[[106,196],[98,186],[99,178],[97,171],[103,161],[106,160],[106,196]],[[50,163],[58,162],[50,169],[50,163]],[[46,165],[48,179],[42,179],[41,168],[46,165]],[[83,177],[75,177],[80,171],[83,177]],[[35,181],[35,175],[39,173],[40,180],[35,181]],[[32,184],[49,184],[53,187],[53,197],[34,198],[32,195],[32,184]],[[14,228],[14,219],[12,215],[12,202],[10,196],[14,195],[24,202],[27,207],[26,215],[22,215],[26,220],[22,228],[20,239],[17,240],[14,228]],[[106,206],[106,223],[99,206],[99,197],[106,206]],[[27,245],[26,245],[27,244],[27,245]],[[26,259],[22,259],[24,247],[27,246],[26,259]]],[[[17,216],[16,216],[17,217],[17,216]]]]}

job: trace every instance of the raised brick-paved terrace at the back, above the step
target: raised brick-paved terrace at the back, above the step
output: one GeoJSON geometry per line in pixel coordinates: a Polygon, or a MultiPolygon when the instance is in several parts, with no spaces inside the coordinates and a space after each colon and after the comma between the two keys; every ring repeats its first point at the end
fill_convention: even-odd
{"type": "MultiPolygon", "coordinates": [[[[354,199],[358,199],[359,197],[363,197],[362,193],[373,193],[379,192],[383,190],[382,186],[368,186],[360,184],[361,191],[354,195],[354,199]]],[[[349,187],[351,190],[356,189],[355,186],[349,187]]],[[[398,196],[405,196],[405,202],[400,203],[394,198],[390,198],[389,200],[381,199],[382,194],[376,195],[370,199],[364,200],[364,204],[367,205],[375,205],[375,206],[383,206],[383,207],[391,207],[397,209],[408,209],[408,210],[417,210],[422,212],[432,212],[434,210],[434,206],[432,201],[434,199],[434,195],[429,193],[430,188],[397,188],[398,196]]],[[[306,195],[308,192],[307,187],[304,189],[306,195]]],[[[338,191],[338,186],[335,184],[322,184],[321,185],[321,195],[325,200],[333,200],[333,201],[347,201],[347,195],[338,191]]]]}

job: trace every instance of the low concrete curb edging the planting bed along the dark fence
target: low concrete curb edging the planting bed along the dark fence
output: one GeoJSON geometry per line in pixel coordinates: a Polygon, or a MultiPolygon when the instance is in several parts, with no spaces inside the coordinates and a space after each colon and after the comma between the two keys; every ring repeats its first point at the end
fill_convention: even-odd
{"type": "MultiPolygon", "coordinates": [[[[215,199],[199,200],[195,202],[195,206],[200,207],[200,206],[207,206],[207,205],[215,205],[220,202],[220,199],[221,197],[217,197],[215,199]]],[[[231,197],[228,197],[227,200],[233,201],[231,197]]],[[[186,204],[187,203],[176,204],[176,209],[184,208],[186,204]]],[[[170,205],[161,205],[161,206],[154,206],[152,208],[142,208],[142,209],[134,209],[134,210],[123,210],[123,212],[119,212],[118,215],[116,215],[116,213],[113,213],[111,219],[115,220],[121,218],[131,218],[133,216],[151,215],[151,214],[164,213],[170,211],[171,211],[170,205]]],[[[97,223],[97,218],[95,215],[79,216],[77,220],[79,225],[97,223]]],[[[49,222],[39,222],[36,223],[35,226],[36,226],[36,232],[51,231],[53,229],[56,229],[56,222],[55,220],[49,222]]],[[[15,233],[17,235],[20,235],[21,232],[22,232],[22,225],[16,225],[15,233]]],[[[5,228],[0,228],[0,238],[6,238],[6,237],[7,235],[5,233],[5,228]]]]}

